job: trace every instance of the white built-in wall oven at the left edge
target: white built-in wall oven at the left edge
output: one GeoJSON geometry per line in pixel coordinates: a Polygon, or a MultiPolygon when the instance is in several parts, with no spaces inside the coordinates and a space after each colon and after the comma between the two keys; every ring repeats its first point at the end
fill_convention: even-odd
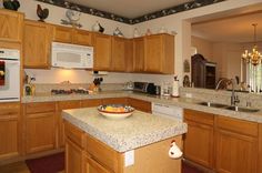
{"type": "Polygon", "coordinates": [[[0,102],[20,101],[20,51],[0,48],[0,102]]]}

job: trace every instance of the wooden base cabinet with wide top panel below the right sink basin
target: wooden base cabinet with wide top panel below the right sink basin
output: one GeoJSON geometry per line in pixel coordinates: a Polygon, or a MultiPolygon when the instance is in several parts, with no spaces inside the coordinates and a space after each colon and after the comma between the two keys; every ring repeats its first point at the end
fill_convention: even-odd
{"type": "Polygon", "coordinates": [[[219,116],[216,125],[216,171],[256,173],[258,123],[219,116]]]}

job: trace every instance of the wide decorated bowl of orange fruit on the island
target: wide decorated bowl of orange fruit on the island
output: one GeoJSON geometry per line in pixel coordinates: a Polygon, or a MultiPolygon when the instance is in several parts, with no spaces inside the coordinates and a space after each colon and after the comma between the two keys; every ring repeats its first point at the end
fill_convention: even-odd
{"type": "Polygon", "coordinates": [[[98,111],[101,115],[109,119],[125,119],[132,115],[134,109],[124,104],[99,105],[98,111]]]}

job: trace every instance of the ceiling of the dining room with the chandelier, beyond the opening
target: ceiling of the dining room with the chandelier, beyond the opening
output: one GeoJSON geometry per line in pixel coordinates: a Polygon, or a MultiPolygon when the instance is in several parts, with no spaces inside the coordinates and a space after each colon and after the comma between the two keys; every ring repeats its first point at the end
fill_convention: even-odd
{"type": "Polygon", "coordinates": [[[262,42],[262,11],[251,12],[192,23],[192,34],[214,42],[253,42],[254,28],[252,23],[258,23],[256,41],[262,42]]]}

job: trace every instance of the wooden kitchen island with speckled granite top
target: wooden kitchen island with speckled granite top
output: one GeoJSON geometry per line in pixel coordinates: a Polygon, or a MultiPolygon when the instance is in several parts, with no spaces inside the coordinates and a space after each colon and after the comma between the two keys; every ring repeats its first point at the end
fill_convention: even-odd
{"type": "Polygon", "coordinates": [[[141,111],[123,120],[100,115],[97,108],[66,110],[66,172],[180,173],[170,159],[171,141],[182,147],[187,124],[141,111]]]}

